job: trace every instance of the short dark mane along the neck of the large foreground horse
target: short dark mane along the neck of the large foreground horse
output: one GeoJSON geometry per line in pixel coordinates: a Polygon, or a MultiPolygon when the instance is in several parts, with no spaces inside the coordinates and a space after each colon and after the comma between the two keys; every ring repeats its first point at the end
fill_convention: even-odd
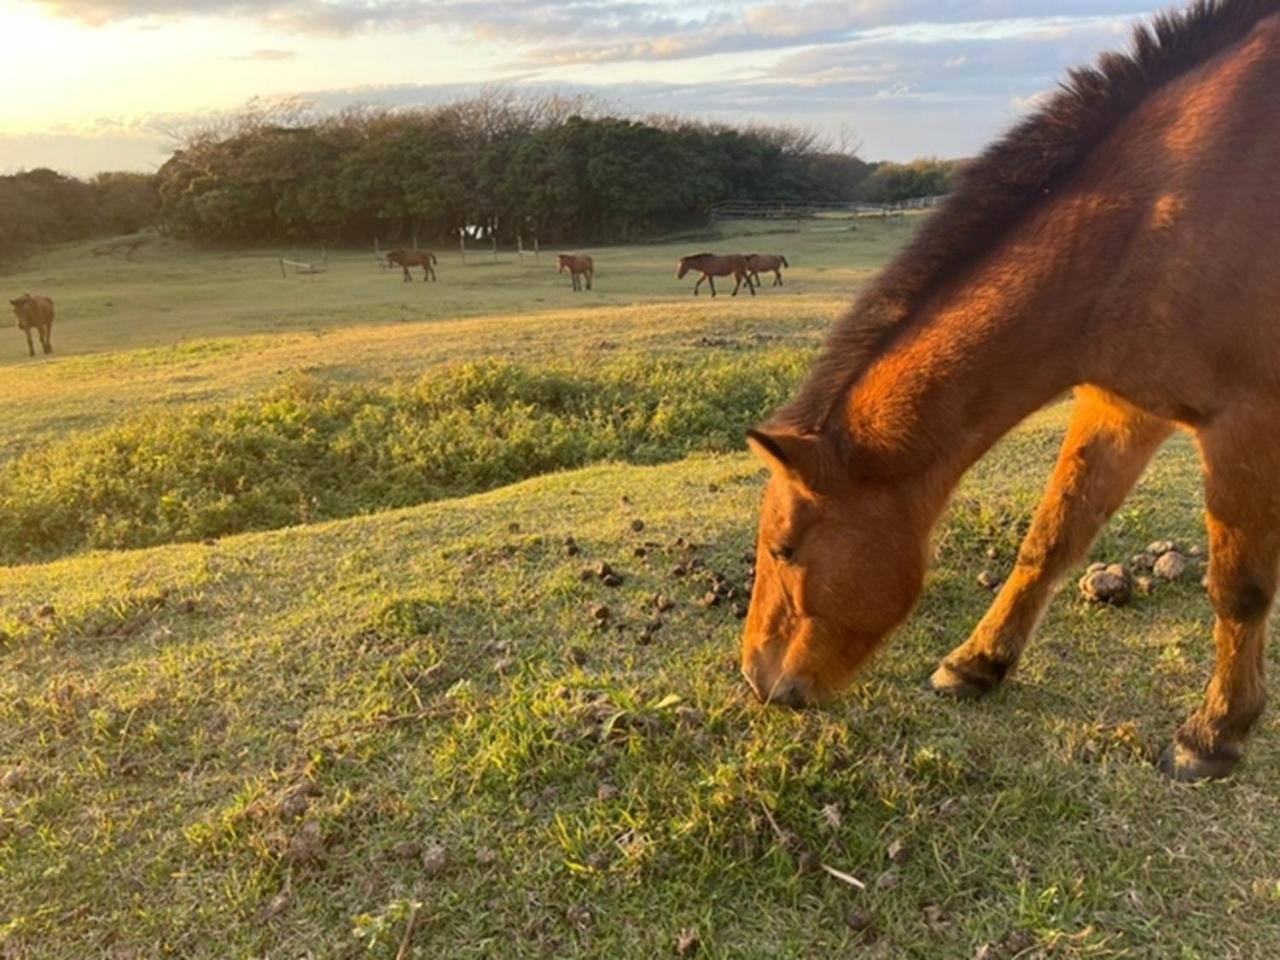
{"type": "Polygon", "coordinates": [[[1194,0],[1137,28],[1128,54],[1074,69],[1034,115],[960,174],[952,196],[827,338],[796,398],[773,424],[818,433],[868,366],[919,317],[920,303],[986,257],[1155,90],[1242,40],[1280,0],[1194,0]]]}

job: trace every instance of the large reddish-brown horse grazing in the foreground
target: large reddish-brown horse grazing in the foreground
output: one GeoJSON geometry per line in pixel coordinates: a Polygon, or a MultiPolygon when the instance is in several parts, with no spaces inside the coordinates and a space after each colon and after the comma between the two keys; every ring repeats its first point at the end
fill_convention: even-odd
{"type": "Polygon", "coordinates": [[[973,698],[1005,678],[1181,428],[1204,463],[1217,658],[1160,769],[1235,765],[1266,696],[1280,570],[1276,157],[1280,4],[1199,0],[1073,73],[974,161],[750,434],[772,470],[742,639],[759,698],[801,707],[846,684],[915,604],[960,476],[1075,388],[1016,564],[933,689],[973,698]]]}

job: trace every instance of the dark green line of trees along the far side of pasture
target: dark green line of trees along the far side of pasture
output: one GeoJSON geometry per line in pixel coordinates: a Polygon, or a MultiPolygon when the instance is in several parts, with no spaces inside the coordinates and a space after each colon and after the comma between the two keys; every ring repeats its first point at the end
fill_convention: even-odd
{"type": "Polygon", "coordinates": [[[705,224],[723,200],[945,193],[954,170],[869,164],[804,129],[625,119],[577,99],[338,115],[276,105],[188,136],[154,175],[0,178],[0,257],[148,224],[221,243],[625,242],[705,224]]]}

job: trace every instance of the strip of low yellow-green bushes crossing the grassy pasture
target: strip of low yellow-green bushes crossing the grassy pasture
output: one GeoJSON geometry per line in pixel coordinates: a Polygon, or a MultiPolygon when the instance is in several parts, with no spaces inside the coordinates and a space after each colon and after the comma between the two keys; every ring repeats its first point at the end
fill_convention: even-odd
{"type": "Polygon", "coordinates": [[[0,467],[0,562],[348,517],[588,463],[742,445],[805,351],[467,364],[413,384],[296,379],[229,406],[157,408],[0,467]]]}

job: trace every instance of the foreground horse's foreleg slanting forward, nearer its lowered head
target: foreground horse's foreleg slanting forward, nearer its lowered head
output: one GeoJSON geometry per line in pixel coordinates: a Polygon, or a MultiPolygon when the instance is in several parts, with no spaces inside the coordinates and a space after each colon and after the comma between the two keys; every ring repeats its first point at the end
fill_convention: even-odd
{"type": "Polygon", "coordinates": [[[1057,466],[1009,580],[931,684],[973,698],[993,690],[1036,632],[1061,576],[1084,557],[1172,425],[1093,388],[1075,393],[1057,466]]]}

